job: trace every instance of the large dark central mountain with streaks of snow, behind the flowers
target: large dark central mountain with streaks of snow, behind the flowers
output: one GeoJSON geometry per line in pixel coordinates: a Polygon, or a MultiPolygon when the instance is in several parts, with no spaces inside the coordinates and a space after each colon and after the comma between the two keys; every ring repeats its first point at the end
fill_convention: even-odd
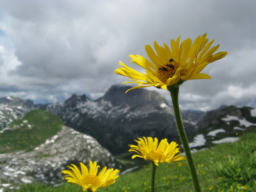
{"type": "MultiPolygon", "coordinates": [[[[72,95],[65,102],[49,104],[51,111],[79,132],[96,138],[112,154],[127,152],[128,145],[142,136],[179,140],[172,109],[157,92],[145,89],[125,91],[129,86],[111,86],[103,97],[90,100],[72,95]]],[[[185,121],[188,134],[195,125],[185,121]]]]}

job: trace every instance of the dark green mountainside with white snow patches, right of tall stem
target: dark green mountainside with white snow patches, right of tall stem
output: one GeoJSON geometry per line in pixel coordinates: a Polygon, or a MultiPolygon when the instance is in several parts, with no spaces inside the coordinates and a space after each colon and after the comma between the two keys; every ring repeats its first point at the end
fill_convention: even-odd
{"type": "Polygon", "coordinates": [[[239,140],[244,133],[256,131],[256,109],[221,106],[208,111],[197,122],[198,131],[189,136],[193,150],[239,140]]]}

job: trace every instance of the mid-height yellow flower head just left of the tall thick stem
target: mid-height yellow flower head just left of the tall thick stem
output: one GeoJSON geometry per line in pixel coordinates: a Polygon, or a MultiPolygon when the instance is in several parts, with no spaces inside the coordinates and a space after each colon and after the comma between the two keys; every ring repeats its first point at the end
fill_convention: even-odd
{"type": "Polygon", "coordinates": [[[136,152],[138,155],[133,155],[132,159],[135,157],[140,157],[145,159],[145,161],[150,160],[153,161],[156,166],[159,163],[179,163],[177,161],[186,159],[185,157],[181,157],[181,154],[175,156],[175,154],[179,153],[179,148],[176,148],[178,144],[172,141],[170,144],[167,139],[161,140],[158,145],[157,138],[151,137],[143,137],[134,140],[138,143],[138,145],[129,145],[131,148],[129,152],[136,152]]]}

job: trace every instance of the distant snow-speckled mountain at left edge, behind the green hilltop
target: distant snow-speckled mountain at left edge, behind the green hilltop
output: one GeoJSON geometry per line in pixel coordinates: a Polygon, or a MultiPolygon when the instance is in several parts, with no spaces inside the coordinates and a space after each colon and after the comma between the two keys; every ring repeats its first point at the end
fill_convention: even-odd
{"type": "Polygon", "coordinates": [[[31,100],[21,100],[18,97],[0,98],[0,131],[15,120],[22,118],[28,111],[40,108],[31,100]]]}

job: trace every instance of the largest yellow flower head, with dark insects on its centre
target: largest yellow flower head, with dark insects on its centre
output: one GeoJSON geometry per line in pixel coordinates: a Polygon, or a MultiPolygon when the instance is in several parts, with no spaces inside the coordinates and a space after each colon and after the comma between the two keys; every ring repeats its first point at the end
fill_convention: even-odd
{"type": "MultiPolygon", "coordinates": [[[[124,83],[138,83],[132,89],[155,86],[167,90],[168,87],[182,84],[191,79],[211,79],[207,74],[200,73],[209,63],[220,60],[228,53],[217,52],[219,45],[211,47],[214,40],[208,42],[206,34],[198,36],[192,44],[190,38],[180,44],[180,36],[177,40],[171,40],[170,47],[164,44],[163,47],[154,42],[154,49],[150,45],[145,46],[148,58],[140,55],[129,55],[131,61],[145,69],[145,74],[128,67],[121,61],[121,68],[116,68],[115,73],[131,78],[131,81],[124,83]]],[[[128,92],[129,90],[127,90],[128,92]]]]}

